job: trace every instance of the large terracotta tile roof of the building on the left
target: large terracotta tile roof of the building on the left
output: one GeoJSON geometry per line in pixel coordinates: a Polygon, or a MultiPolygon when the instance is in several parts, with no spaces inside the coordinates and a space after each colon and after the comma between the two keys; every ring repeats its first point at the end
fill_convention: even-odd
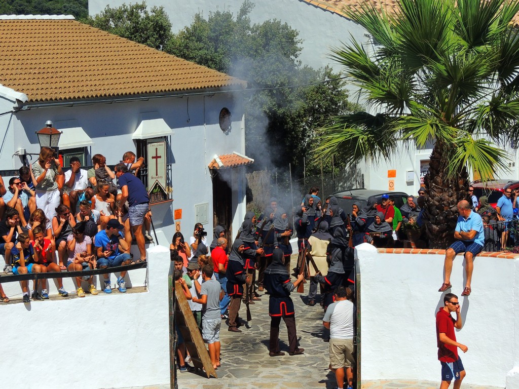
{"type": "Polygon", "coordinates": [[[30,102],[247,85],[76,20],[0,18],[0,52],[0,84],[30,102]]]}

